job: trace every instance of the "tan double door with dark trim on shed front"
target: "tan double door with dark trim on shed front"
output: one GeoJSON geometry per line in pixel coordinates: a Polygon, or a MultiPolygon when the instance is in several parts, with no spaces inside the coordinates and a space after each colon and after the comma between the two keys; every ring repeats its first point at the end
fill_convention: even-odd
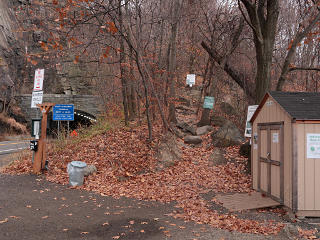
{"type": "Polygon", "coordinates": [[[258,189],[283,202],[283,124],[259,124],[258,139],[258,189]]]}

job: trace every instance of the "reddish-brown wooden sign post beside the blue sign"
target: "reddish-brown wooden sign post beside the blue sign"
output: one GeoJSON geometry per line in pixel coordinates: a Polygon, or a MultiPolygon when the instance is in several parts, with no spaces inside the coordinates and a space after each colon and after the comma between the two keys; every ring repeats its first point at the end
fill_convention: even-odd
{"type": "Polygon", "coordinates": [[[51,108],[54,106],[54,103],[42,103],[37,104],[37,107],[40,108],[42,112],[42,121],[41,121],[41,136],[38,143],[38,150],[35,153],[34,162],[33,162],[33,172],[39,174],[41,170],[45,168],[46,165],[46,139],[47,139],[47,120],[48,113],[51,108]]]}

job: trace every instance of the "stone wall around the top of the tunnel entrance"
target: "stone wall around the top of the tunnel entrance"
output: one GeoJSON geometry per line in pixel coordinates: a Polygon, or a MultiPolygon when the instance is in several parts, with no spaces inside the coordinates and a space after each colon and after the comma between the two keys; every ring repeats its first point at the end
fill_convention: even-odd
{"type": "MultiPolygon", "coordinates": [[[[15,96],[17,104],[28,120],[40,116],[39,110],[31,108],[31,94],[21,94],[15,96]]],[[[74,104],[74,109],[78,109],[99,117],[103,113],[103,104],[99,96],[94,95],[65,95],[65,94],[44,94],[43,102],[56,104],[74,104]]]]}

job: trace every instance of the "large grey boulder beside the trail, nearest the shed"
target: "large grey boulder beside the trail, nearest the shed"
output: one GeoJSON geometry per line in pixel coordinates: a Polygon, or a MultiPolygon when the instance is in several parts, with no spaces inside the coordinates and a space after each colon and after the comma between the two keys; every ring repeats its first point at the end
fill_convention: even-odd
{"type": "Polygon", "coordinates": [[[230,121],[223,125],[218,131],[211,134],[212,144],[216,147],[229,147],[240,145],[244,138],[239,129],[230,121]]]}

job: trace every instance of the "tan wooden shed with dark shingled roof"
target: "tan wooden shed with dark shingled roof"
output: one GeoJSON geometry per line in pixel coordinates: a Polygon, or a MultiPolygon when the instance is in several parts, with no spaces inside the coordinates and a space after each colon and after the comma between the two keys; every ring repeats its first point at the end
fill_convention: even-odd
{"type": "Polygon", "coordinates": [[[251,124],[253,188],[320,217],[320,93],[269,92],[251,124]]]}

